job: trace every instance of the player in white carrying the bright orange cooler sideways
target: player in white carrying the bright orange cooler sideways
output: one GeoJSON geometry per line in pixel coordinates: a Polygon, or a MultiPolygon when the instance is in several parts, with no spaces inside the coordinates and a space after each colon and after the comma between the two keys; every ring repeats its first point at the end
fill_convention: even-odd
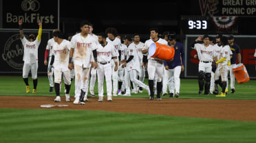
{"type": "MultiPolygon", "coordinates": [[[[166,40],[163,40],[162,38],[158,38],[158,29],[157,28],[152,28],[150,29],[150,36],[151,39],[147,40],[143,46],[142,53],[146,54],[149,52],[149,46],[153,42],[158,42],[160,44],[168,44],[166,40]]],[[[157,81],[157,100],[161,101],[161,96],[160,93],[162,92],[162,73],[163,73],[163,64],[162,60],[158,60],[156,58],[150,57],[148,55],[147,59],[149,60],[147,64],[147,72],[149,74],[149,89],[150,89],[150,97],[149,100],[153,100],[154,96],[154,91],[153,91],[153,86],[154,86],[154,79],[156,76],[156,81],[157,81]]]]}

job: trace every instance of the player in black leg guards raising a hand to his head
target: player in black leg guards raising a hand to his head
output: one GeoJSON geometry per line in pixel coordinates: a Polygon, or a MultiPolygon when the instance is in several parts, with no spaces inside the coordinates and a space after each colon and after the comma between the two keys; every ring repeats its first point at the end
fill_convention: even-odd
{"type": "Polygon", "coordinates": [[[202,94],[204,90],[204,94],[209,95],[211,86],[211,63],[213,62],[213,57],[214,60],[217,61],[217,55],[215,53],[214,47],[213,45],[209,44],[209,36],[205,34],[204,36],[199,36],[195,42],[191,44],[191,48],[198,52],[198,59],[200,60],[198,66],[198,94],[202,94]],[[199,41],[203,41],[204,43],[197,43],[199,41]],[[205,86],[204,80],[206,81],[205,86]]]}

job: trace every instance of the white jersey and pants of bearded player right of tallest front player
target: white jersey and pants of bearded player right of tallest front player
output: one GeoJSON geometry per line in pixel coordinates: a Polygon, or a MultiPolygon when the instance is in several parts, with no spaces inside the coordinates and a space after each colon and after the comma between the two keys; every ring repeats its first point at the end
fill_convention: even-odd
{"type": "Polygon", "coordinates": [[[111,96],[112,91],[112,81],[111,81],[111,58],[115,57],[116,52],[114,45],[107,42],[105,47],[101,44],[98,44],[97,49],[97,60],[98,60],[98,96],[103,96],[103,82],[104,75],[106,79],[107,86],[107,96],[111,96]]]}

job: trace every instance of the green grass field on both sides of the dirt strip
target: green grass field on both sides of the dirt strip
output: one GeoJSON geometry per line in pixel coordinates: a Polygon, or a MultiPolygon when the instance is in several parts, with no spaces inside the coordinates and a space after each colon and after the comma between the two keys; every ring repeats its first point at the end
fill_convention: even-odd
{"type": "MultiPolygon", "coordinates": [[[[0,95],[55,96],[47,77],[25,93],[22,77],[0,77],[0,95]]],[[[74,95],[74,81],[71,95],[74,95]]],[[[147,83],[147,80],[145,81],[147,83]]],[[[32,79],[30,79],[32,86],[32,79]]],[[[256,81],[236,83],[224,98],[198,96],[196,79],[181,79],[180,99],[256,99],[256,81]]],[[[61,89],[63,91],[63,88],[61,89]]],[[[95,92],[96,88],[95,88],[95,92]]],[[[63,92],[62,95],[64,96],[63,92]]],[[[127,98],[148,98],[147,92],[127,98]]],[[[164,98],[168,98],[164,96],[164,98]]],[[[8,142],[255,142],[256,122],[62,109],[0,109],[0,143],[8,142]]]]}

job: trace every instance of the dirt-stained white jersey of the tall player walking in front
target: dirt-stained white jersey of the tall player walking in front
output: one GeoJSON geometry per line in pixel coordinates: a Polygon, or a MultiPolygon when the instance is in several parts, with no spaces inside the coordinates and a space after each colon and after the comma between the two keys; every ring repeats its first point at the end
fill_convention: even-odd
{"type": "Polygon", "coordinates": [[[92,51],[97,49],[96,39],[89,34],[86,38],[83,38],[81,33],[76,34],[72,37],[71,48],[74,49],[74,62],[76,62],[76,64],[79,62],[81,66],[83,65],[84,67],[89,68],[88,66],[91,61],[92,51]]]}

